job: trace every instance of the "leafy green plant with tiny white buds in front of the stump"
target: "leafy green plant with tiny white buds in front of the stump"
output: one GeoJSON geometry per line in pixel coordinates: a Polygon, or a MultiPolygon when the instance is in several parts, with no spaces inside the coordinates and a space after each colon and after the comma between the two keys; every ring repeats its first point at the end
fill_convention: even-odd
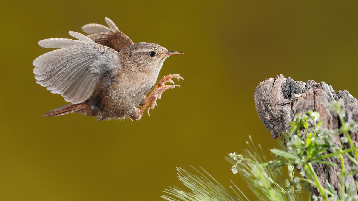
{"type": "MultiPolygon", "coordinates": [[[[315,186],[323,200],[358,200],[357,190],[353,190],[350,186],[345,188],[345,176],[357,173],[355,167],[348,167],[344,163],[343,156],[347,156],[355,165],[358,166],[357,162],[357,148],[354,147],[349,132],[358,128],[355,122],[344,122],[344,110],[341,109],[343,106],[343,100],[334,101],[330,104],[330,108],[340,118],[341,127],[337,130],[324,129],[322,128],[323,122],[318,122],[319,114],[317,112],[308,111],[304,114],[296,114],[294,122],[290,123],[289,133],[282,132],[282,136],[286,142],[286,148],[282,141],[279,141],[281,149],[271,149],[270,151],[276,155],[276,159],[269,163],[259,162],[260,158],[256,153],[250,151],[247,155],[250,160],[243,158],[242,155],[236,155],[235,153],[229,154],[231,159],[234,161],[231,170],[233,173],[241,172],[241,175],[247,178],[248,185],[254,189],[255,195],[260,200],[277,200],[274,198],[274,192],[272,188],[268,186],[274,185],[277,189],[275,190],[278,195],[284,195],[288,200],[294,201],[296,193],[302,192],[301,185],[304,185],[304,189],[309,194],[309,200],[317,200],[316,196],[311,196],[311,185],[315,186]],[[334,136],[340,136],[341,146],[334,144],[334,136]],[[349,143],[350,148],[344,149],[343,144],[349,143]],[[286,150],[287,149],[287,150],[286,150]],[[351,156],[350,154],[353,153],[351,156]],[[337,164],[326,161],[325,159],[330,157],[337,157],[340,159],[340,181],[341,190],[340,197],[334,190],[332,185],[326,182],[327,188],[324,188],[320,183],[316,172],[314,171],[314,164],[322,163],[325,165],[338,167],[337,164]],[[267,167],[274,170],[279,170],[282,166],[287,166],[289,175],[287,177],[287,185],[282,186],[277,184],[269,174],[265,173],[268,170],[267,167]],[[240,168],[238,168],[240,167],[240,168]],[[296,176],[294,167],[300,167],[301,177],[296,176]],[[261,175],[262,174],[262,175],[261,175]],[[266,177],[266,180],[264,180],[266,177]],[[266,181],[265,185],[260,185],[263,181],[266,181]],[[267,181],[271,182],[271,185],[267,186],[267,181]],[[296,186],[294,186],[294,184],[296,186]],[[263,193],[262,193],[263,192],[263,193]],[[355,193],[354,193],[355,192],[355,193]]],[[[280,198],[280,200],[285,198],[280,198]]]]}

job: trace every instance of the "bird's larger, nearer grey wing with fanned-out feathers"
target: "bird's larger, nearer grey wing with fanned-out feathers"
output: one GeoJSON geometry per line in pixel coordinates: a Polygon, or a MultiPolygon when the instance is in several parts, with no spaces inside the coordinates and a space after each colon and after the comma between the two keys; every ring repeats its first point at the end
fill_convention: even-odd
{"type": "Polygon", "coordinates": [[[69,31],[79,40],[50,38],[39,41],[44,48],[61,48],[33,61],[36,82],[66,101],[82,103],[91,97],[102,73],[121,68],[116,50],[69,31]]]}

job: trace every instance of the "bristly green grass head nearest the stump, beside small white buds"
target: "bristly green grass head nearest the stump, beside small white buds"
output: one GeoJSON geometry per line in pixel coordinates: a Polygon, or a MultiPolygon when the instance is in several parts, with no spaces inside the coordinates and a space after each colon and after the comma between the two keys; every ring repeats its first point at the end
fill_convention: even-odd
{"type": "MultiPolygon", "coordinates": [[[[293,190],[290,180],[285,179],[284,176],[287,171],[283,170],[282,167],[287,166],[289,168],[288,173],[293,178],[297,173],[293,172],[293,166],[289,166],[277,159],[268,161],[261,145],[255,146],[251,136],[249,138],[250,142],[246,142],[249,148],[243,151],[243,155],[248,158],[236,153],[230,153],[229,157],[226,157],[233,164],[231,171],[244,178],[251,192],[258,200],[295,200],[296,197],[296,200],[304,200],[301,195],[295,195],[303,191],[293,190]]],[[[273,154],[270,157],[275,158],[273,154]]],[[[290,178],[290,176],[287,176],[287,178],[290,178]]]]}

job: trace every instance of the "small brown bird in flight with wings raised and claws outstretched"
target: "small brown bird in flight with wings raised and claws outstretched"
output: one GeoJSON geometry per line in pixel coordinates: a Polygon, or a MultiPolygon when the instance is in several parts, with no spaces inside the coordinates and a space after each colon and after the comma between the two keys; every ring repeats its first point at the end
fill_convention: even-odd
{"type": "Polygon", "coordinates": [[[41,47],[60,49],[33,61],[36,82],[71,102],[43,117],[76,112],[96,117],[97,121],[126,118],[136,121],[147,107],[148,114],[154,109],[165,90],[180,87],[172,80],[184,80],[179,74],[164,76],[158,83],[156,80],[166,58],[184,53],[169,51],[155,43],[133,43],[111,19],[106,17],[105,21],[109,28],[95,23],[82,26],[87,36],[68,32],[78,40],[39,41],[41,47]]]}

